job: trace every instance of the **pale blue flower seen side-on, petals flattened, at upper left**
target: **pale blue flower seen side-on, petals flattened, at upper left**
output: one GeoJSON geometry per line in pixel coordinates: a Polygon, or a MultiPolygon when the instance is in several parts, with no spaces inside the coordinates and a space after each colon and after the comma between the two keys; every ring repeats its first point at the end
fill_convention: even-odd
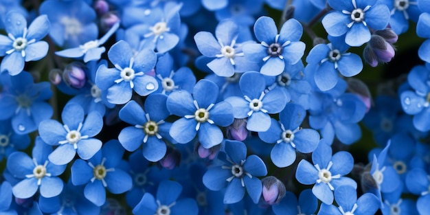
{"type": "Polygon", "coordinates": [[[70,49],[64,49],[62,51],[55,52],[56,55],[66,57],[66,58],[82,58],[85,63],[92,60],[99,60],[104,51],[104,47],[99,47],[106,43],[109,37],[120,27],[120,23],[115,23],[111,29],[100,38],[100,40],[88,41],[84,45],[79,45],[79,47],[73,47],[70,49]]]}

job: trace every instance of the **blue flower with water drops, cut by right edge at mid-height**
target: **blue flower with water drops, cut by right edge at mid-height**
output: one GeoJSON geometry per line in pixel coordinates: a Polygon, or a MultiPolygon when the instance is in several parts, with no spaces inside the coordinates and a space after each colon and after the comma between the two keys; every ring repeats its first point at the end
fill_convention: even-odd
{"type": "Polygon", "coordinates": [[[407,80],[413,90],[403,91],[400,94],[400,102],[403,111],[408,115],[414,115],[414,126],[419,131],[430,131],[430,65],[415,66],[409,71],[407,80]]]}

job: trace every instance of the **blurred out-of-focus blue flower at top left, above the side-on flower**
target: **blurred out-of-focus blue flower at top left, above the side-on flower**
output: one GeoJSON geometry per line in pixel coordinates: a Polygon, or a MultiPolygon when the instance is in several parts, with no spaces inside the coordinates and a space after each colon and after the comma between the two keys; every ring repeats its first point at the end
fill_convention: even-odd
{"type": "Polygon", "coordinates": [[[78,47],[98,37],[98,27],[94,23],[96,14],[82,0],[43,1],[39,12],[51,21],[49,36],[60,47],[78,47]]]}

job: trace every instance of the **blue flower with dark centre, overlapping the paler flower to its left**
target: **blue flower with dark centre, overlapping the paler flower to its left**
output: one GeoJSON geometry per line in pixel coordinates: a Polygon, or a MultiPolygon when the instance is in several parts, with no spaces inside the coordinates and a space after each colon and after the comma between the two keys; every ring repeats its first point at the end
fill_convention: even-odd
{"type": "Polygon", "coordinates": [[[243,46],[245,58],[262,63],[260,72],[267,76],[278,76],[286,64],[295,64],[304,54],[305,44],[302,37],[303,27],[299,21],[289,19],[282,25],[278,34],[275,21],[261,16],[254,25],[254,33],[260,41],[243,46]]]}

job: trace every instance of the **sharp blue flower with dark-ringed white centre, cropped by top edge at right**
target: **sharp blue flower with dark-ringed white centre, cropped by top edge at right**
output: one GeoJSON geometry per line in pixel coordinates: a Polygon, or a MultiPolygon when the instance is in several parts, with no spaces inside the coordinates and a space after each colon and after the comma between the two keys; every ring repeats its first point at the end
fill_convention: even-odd
{"type": "Polygon", "coordinates": [[[370,41],[370,29],[387,27],[390,12],[387,5],[376,0],[328,0],[335,11],[330,12],[321,23],[330,36],[346,34],[346,44],[359,47],[370,41]]]}

